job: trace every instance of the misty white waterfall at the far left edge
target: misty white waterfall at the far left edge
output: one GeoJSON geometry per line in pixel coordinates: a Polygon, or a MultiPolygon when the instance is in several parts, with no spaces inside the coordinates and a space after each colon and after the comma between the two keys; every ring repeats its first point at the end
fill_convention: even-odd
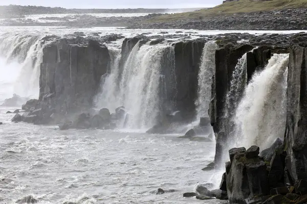
{"type": "Polygon", "coordinates": [[[36,34],[5,33],[0,36],[0,69],[1,85],[5,85],[5,93],[1,97],[11,97],[14,93],[20,96],[38,97],[39,72],[42,60],[40,43],[42,36],[36,34]],[[12,71],[13,70],[13,71],[12,71]]]}

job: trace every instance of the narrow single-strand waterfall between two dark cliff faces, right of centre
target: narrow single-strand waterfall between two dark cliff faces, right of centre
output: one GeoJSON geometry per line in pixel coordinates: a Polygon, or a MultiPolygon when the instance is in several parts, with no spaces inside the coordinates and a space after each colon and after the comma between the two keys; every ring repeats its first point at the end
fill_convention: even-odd
{"type": "Polygon", "coordinates": [[[217,44],[209,41],[205,44],[198,76],[198,98],[195,101],[197,118],[208,117],[211,102],[212,78],[215,74],[215,49],[217,44]]]}

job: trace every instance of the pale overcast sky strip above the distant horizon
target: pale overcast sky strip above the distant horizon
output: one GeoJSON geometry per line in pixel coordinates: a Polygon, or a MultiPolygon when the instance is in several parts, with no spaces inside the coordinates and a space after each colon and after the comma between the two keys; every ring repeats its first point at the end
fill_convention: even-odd
{"type": "Polygon", "coordinates": [[[223,0],[0,0],[0,5],[34,5],[64,8],[198,8],[222,4],[223,0]]]}

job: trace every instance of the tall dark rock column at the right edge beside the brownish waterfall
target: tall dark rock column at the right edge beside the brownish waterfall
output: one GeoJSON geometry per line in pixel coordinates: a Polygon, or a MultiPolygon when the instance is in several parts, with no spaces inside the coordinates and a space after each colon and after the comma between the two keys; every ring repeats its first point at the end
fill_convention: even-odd
{"type": "MultiPolygon", "coordinates": [[[[306,42],[306,41],[305,41],[306,42]]],[[[294,180],[307,180],[307,43],[290,48],[287,92],[286,168],[294,180]]]]}

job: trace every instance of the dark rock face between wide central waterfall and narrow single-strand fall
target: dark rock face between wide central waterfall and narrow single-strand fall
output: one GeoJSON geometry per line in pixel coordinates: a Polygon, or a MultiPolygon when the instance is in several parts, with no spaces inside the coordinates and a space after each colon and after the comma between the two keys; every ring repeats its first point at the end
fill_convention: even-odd
{"type": "Polygon", "coordinates": [[[198,73],[205,45],[204,40],[174,44],[177,81],[177,108],[187,117],[193,116],[198,90],[198,73]]]}

